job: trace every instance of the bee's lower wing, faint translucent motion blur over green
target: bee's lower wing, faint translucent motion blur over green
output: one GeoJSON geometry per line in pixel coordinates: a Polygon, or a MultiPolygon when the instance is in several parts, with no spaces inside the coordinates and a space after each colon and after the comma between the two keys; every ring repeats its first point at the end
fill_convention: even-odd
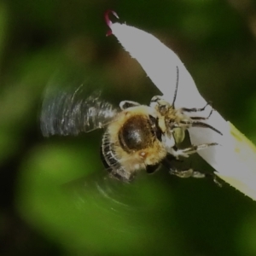
{"type": "MultiPolygon", "coordinates": [[[[124,183],[109,175],[106,170],[102,170],[102,172],[92,172],[65,183],[62,188],[72,193],[75,196],[74,199],[81,204],[91,203],[97,209],[102,207],[103,212],[109,210],[117,214],[127,214],[142,210],[142,203],[138,204],[136,196],[131,195],[131,191],[134,191],[132,189],[136,191],[141,189],[139,179],[134,183],[124,183]]],[[[88,210],[90,207],[84,208],[88,210]]],[[[148,211],[148,207],[145,207],[145,211],[148,211]]]]}

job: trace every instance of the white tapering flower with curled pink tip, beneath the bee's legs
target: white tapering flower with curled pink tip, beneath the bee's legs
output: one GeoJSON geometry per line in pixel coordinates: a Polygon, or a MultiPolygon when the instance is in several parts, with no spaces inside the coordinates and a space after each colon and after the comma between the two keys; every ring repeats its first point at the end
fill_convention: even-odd
{"type": "MultiPolygon", "coordinates": [[[[112,23],[108,20],[108,13],[106,20],[112,34],[131,57],[140,63],[148,78],[163,93],[166,100],[172,102],[178,67],[175,107],[202,108],[206,105],[207,102],[197,90],[188,70],[172,49],[148,32],[134,26],[112,23]]],[[[246,137],[217,111],[213,111],[207,124],[221,131],[223,136],[208,128],[194,127],[189,129],[191,143],[218,143],[218,146],[201,150],[199,154],[217,171],[218,177],[256,200],[256,149],[253,145],[248,146],[246,137]]]]}

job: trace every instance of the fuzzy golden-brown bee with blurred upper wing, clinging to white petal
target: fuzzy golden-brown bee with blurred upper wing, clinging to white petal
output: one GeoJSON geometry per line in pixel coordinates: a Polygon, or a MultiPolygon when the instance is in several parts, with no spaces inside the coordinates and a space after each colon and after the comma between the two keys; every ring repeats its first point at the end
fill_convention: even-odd
{"type": "MultiPolygon", "coordinates": [[[[210,128],[204,123],[207,117],[191,117],[188,113],[203,112],[203,108],[175,108],[178,88],[177,83],[172,103],[162,96],[153,96],[148,106],[138,102],[123,101],[119,109],[93,94],[78,100],[79,92],[63,93],[54,101],[44,101],[41,115],[41,129],[44,136],[78,135],[81,132],[104,128],[101,146],[101,158],[105,168],[112,177],[124,182],[131,182],[137,172],[146,170],[153,173],[161,165],[166,166],[172,175],[177,177],[206,177],[207,174],[192,168],[177,170],[173,160],[189,157],[198,150],[218,145],[205,143],[192,145],[189,148],[177,148],[182,143],[185,131],[190,127],[210,128]]],[[[221,134],[222,135],[222,134],[221,134]]]]}

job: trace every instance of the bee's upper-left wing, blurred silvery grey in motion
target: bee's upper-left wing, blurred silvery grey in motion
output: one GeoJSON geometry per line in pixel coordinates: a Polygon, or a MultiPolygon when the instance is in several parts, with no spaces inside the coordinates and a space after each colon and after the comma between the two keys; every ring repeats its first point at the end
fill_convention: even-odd
{"type": "Polygon", "coordinates": [[[50,135],[78,135],[108,125],[118,113],[100,92],[84,96],[85,86],[77,90],[46,91],[41,112],[41,130],[50,135]]]}

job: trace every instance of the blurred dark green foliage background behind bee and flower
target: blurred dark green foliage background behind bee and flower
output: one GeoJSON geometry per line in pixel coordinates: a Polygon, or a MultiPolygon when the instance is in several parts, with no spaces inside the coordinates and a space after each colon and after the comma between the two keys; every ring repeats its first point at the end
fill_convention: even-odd
{"type": "MultiPolygon", "coordinates": [[[[255,203],[228,184],[166,170],[131,185],[102,181],[89,175],[105,172],[102,131],[41,135],[44,87],[56,73],[90,78],[113,102],[159,93],[105,37],[107,9],[177,52],[201,94],[256,141],[253,0],[1,1],[0,254],[256,255],[255,203]],[[89,185],[70,183],[79,177],[89,185]]],[[[192,165],[212,172],[199,157],[192,165]]]]}

